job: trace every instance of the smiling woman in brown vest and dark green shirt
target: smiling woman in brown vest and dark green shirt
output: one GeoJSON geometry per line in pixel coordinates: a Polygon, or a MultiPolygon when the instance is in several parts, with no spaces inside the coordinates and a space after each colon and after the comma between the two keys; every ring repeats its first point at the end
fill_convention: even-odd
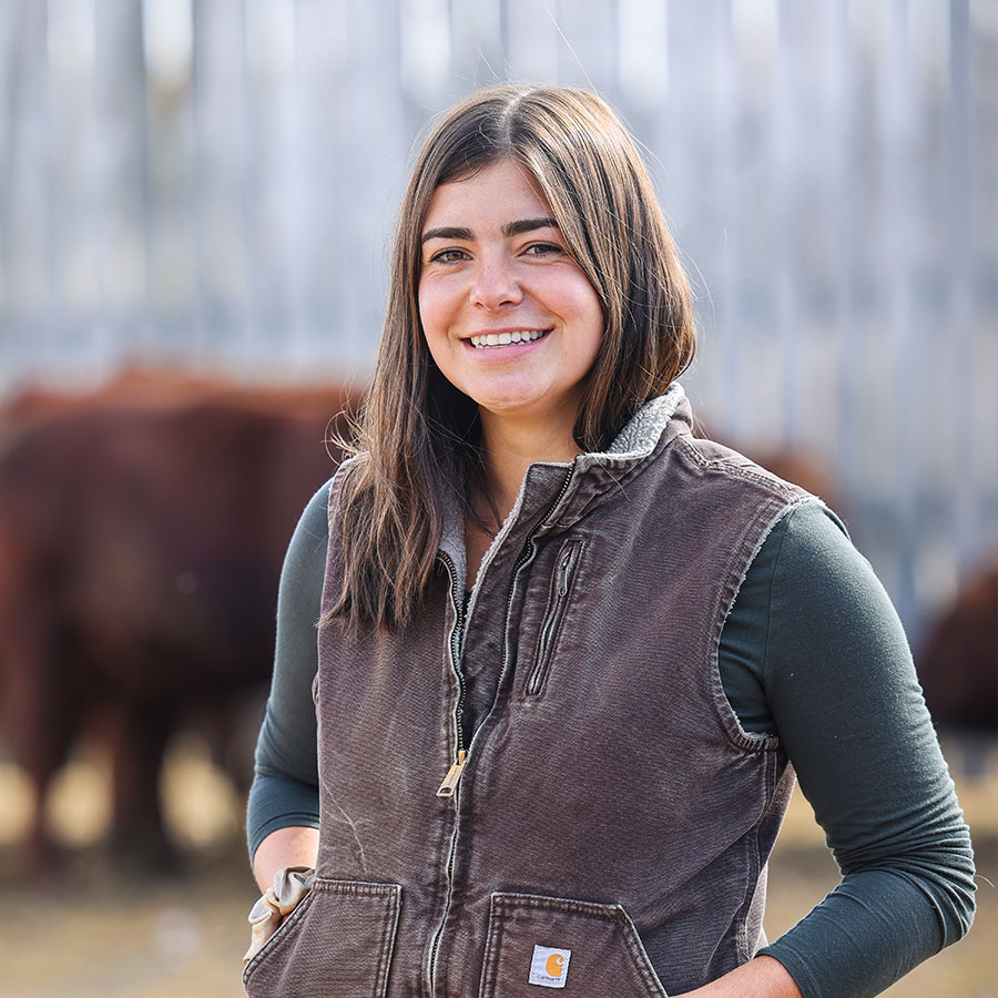
{"type": "Polygon", "coordinates": [[[896,615],[819,500],[693,438],[693,347],[598,98],[436,125],[358,452],[282,581],[251,995],[872,995],[966,931],[896,615]],[[844,877],[767,946],[791,763],[844,877]]]}

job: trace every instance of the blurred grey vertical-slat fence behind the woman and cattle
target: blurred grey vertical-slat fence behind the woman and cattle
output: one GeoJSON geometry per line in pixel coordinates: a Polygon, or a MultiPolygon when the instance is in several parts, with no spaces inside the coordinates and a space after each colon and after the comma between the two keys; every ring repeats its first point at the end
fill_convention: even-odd
{"type": "Polygon", "coordinates": [[[623,114],[701,415],[828,462],[917,632],[998,549],[998,0],[9,0],[0,391],[369,367],[413,142],[506,79],[623,114]]]}

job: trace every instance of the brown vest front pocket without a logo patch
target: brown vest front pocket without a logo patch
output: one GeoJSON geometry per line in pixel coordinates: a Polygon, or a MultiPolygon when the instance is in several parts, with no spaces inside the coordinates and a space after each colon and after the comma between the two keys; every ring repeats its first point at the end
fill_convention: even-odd
{"type": "Polygon", "coordinates": [[[383,998],[401,887],[316,877],[243,968],[249,998],[383,998]]]}

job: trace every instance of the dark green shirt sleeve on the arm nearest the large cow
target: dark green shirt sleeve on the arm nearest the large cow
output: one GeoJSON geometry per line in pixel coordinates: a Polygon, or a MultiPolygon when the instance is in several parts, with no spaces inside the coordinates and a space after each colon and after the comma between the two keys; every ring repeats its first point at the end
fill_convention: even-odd
{"type": "Polygon", "coordinates": [[[318,827],[312,684],[318,670],[316,623],[322,614],[328,501],[327,481],[302,513],[281,572],[274,675],[246,809],[251,862],[272,832],[288,826],[318,827]]]}

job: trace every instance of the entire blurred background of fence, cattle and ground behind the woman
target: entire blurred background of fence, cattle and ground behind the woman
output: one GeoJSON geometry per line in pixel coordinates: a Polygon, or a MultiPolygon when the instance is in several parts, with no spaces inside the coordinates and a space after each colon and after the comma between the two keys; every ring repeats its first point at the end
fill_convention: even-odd
{"type": "MultiPolygon", "coordinates": [[[[242,994],[281,554],[414,145],[502,80],[593,89],[643,144],[697,415],[846,520],[998,880],[998,0],[7,0],[3,998],[242,994]]],[[[834,880],[796,800],[771,936],[834,880]]],[[[998,995],[980,888],[892,995],[998,995]]]]}

